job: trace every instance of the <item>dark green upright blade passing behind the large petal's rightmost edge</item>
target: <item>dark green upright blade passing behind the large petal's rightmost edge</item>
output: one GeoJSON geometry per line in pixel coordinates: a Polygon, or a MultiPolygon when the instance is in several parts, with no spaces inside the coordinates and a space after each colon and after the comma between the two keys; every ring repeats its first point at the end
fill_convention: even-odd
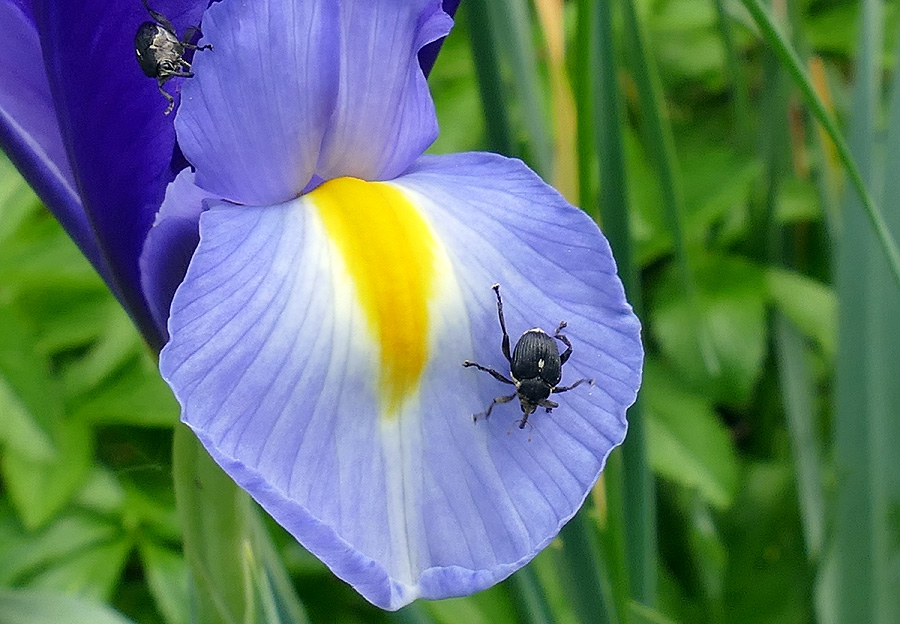
{"type": "MultiPolygon", "coordinates": [[[[641,286],[632,252],[628,218],[629,199],[622,138],[622,111],[616,80],[613,17],[609,2],[597,9],[599,48],[595,63],[597,99],[595,124],[600,154],[600,216],[619,266],[628,299],[638,315],[642,312],[641,286]]],[[[647,442],[641,402],[628,412],[629,430],[622,447],[624,469],[622,517],[631,596],[647,605],[656,598],[656,503],[653,475],[647,459],[647,442]]],[[[619,517],[612,513],[610,522],[619,517]]],[[[613,533],[615,530],[613,529],[613,533]]],[[[615,541],[611,544],[616,548],[615,541]]],[[[622,574],[611,572],[614,577],[622,574]]],[[[617,605],[620,606],[620,605],[617,605]]],[[[622,606],[620,611],[624,612],[622,606]]]]}

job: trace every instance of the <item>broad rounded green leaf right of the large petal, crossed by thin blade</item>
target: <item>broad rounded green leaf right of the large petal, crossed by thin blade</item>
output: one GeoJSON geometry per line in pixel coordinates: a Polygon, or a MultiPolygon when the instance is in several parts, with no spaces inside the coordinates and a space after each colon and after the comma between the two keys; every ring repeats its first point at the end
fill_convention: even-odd
{"type": "Polygon", "coordinates": [[[715,401],[740,405],[750,399],[765,359],[763,271],[733,256],[707,256],[697,263],[700,319],[684,295],[680,274],[667,271],[655,293],[651,330],[662,352],[692,386],[715,401]],[[719,366],[707,368],[698,322],[719,366]]]}

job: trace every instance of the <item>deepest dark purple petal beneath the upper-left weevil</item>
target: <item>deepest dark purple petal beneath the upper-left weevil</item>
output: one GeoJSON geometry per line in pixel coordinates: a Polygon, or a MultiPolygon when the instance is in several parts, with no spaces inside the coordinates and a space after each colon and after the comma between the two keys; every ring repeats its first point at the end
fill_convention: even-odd
{"type": "MultiPolygon", "coordinates": [[[[179,34],[206,0],[155,0],[179,34]]],[[[134,53],[149,20],[139,0],[34,0],[50,89],[82,204],[122,301],[151,344],[161,344],[141,293],[138,258],[166,185],[183,166],[172,116],[134,53]]],[[[178,80],[167,88],[175,92],[178,80]]]]}

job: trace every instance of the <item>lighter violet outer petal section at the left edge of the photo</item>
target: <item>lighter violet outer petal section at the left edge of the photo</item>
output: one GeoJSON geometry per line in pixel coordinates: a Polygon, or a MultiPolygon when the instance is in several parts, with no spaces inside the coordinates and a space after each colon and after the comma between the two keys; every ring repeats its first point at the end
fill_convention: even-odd
{"type": "Polygon", "coordinates": [[[109,269],[78,197],[30,5],[0,0],[0,146],[97,272],[109,269]]]}

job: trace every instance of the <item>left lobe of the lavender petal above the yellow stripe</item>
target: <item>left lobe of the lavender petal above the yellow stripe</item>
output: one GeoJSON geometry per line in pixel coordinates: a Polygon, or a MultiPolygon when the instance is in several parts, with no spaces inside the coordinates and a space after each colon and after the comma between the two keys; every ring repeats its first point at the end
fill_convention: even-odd
{"type": "Polygon", "coordinates": [[[178,139],[197,184],[267,205],[314,173],[338,84],[338,3],[228,0],[210,7],[184,86],[178,139]]]}

